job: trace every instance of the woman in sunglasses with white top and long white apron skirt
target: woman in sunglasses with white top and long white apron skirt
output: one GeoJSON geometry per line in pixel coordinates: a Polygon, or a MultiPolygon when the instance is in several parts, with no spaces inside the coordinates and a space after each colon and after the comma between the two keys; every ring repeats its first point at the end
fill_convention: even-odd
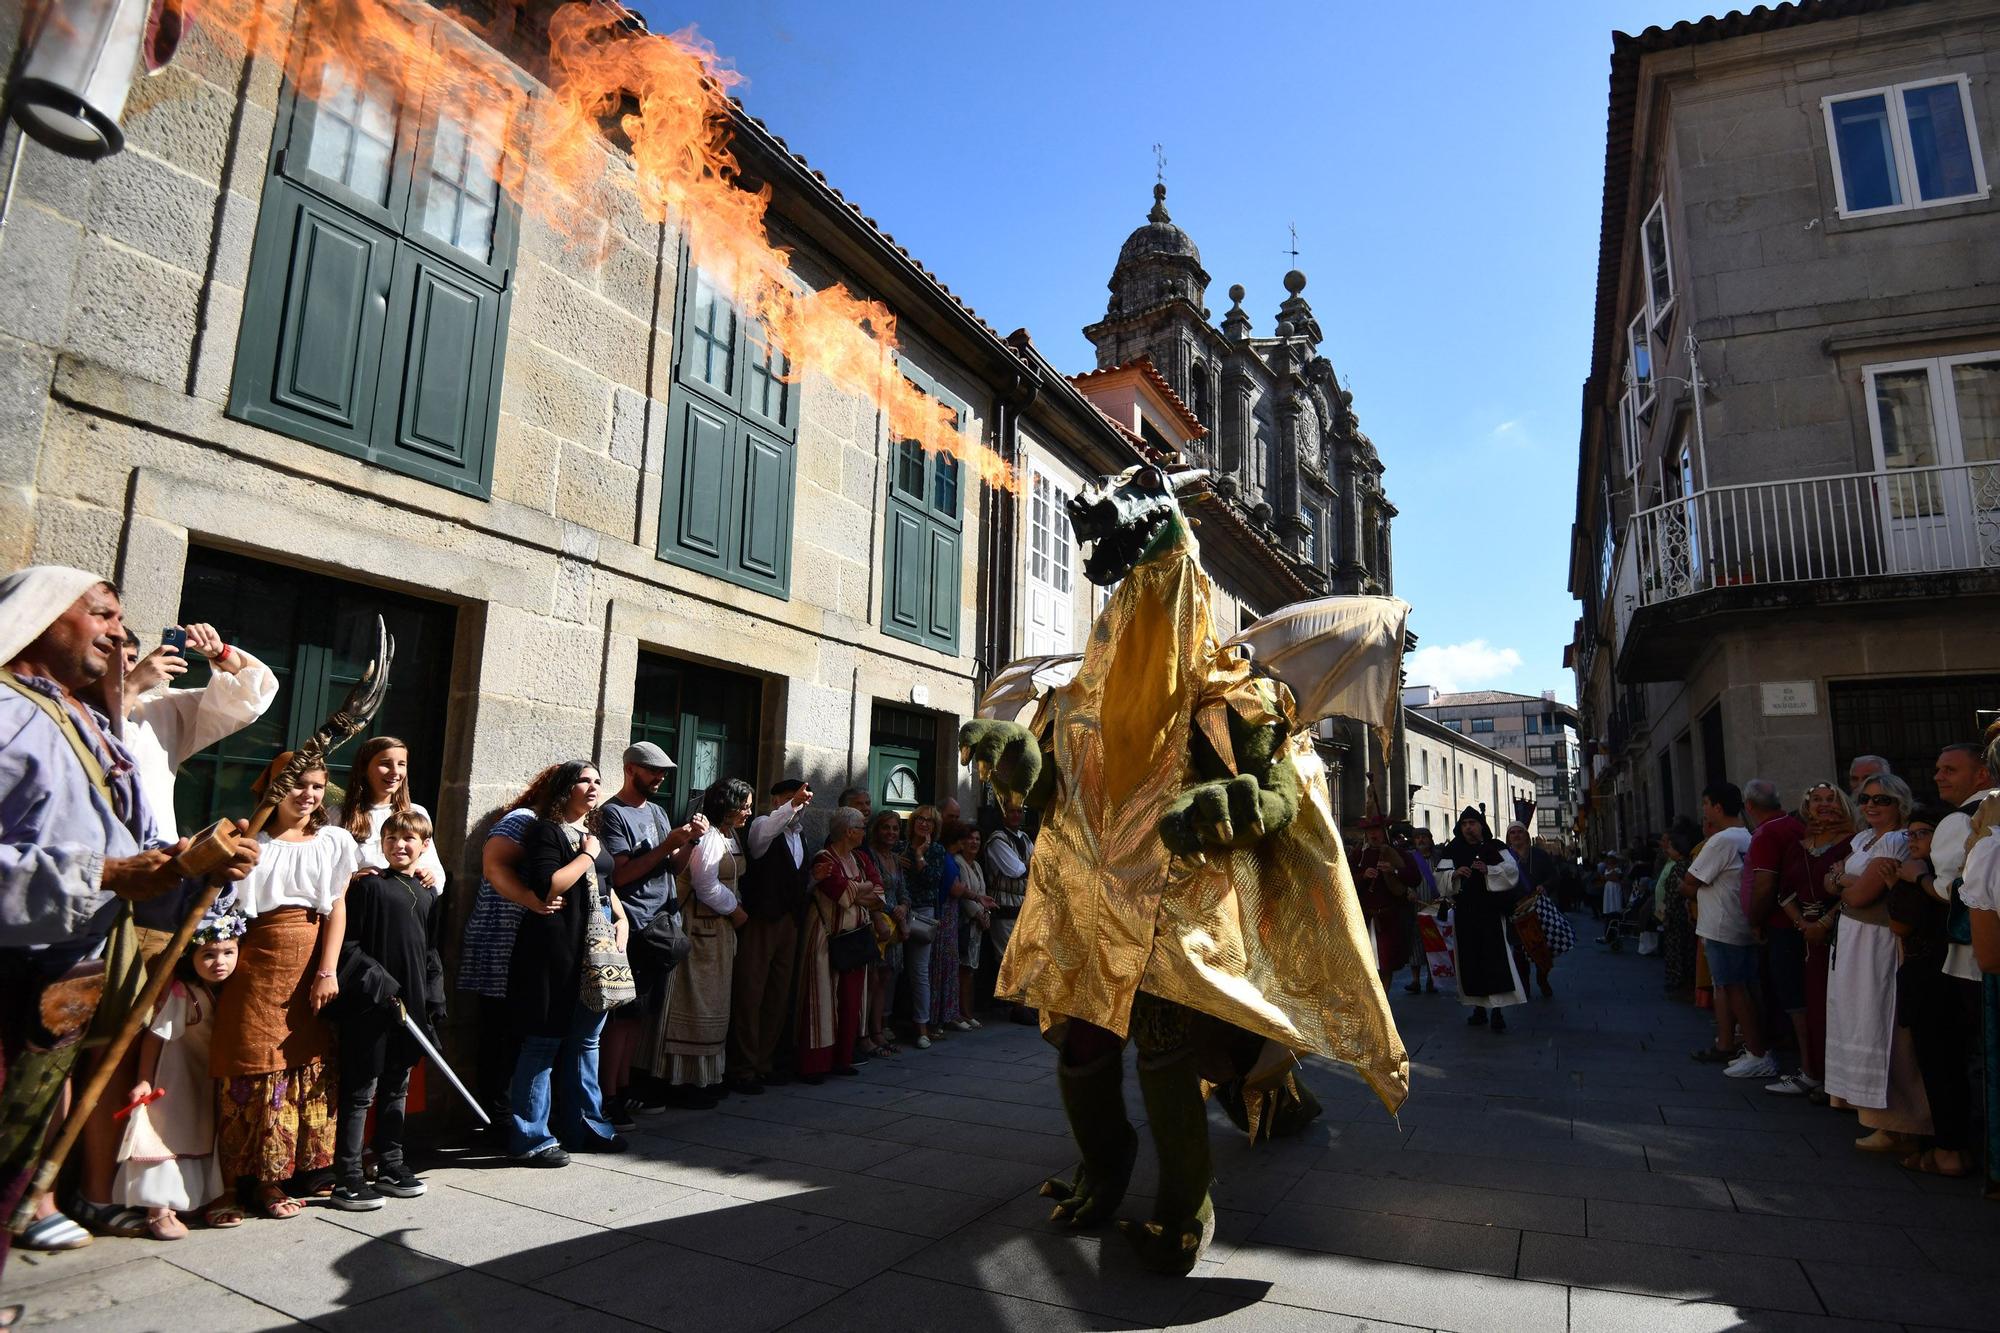
{"type": "Polygon", "coordinates": [[[1828,895],[1840,899],[1826,983],[1826,1091],[1874,1131],[1854,1147],[1908,1153],[1910,1137],[1930,1133],[1916,1049],[1908,1029],[1896,1027],[1898,949],[1888,917],[1888,887],[1908,851],[1910,785],[1878,773],[1862,781],[1858,805],[1866,829],[1826,875],[1828,895]]]}

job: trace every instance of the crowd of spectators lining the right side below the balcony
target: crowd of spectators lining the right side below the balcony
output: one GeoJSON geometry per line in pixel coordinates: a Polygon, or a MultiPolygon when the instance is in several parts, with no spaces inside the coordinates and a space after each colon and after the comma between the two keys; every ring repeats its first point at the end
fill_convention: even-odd
{"type": "Polygon", "coordinates": [[[1856,1149],[1984,1175],[1988,1197],[2000,1197],[1996,773],[1990,731],[1984,749],[1942,749],[1936,803],[1876,755],[1796,801],[1764,779],[1712,783],[1698,825],[1680,819],[1592,877],[1606,939],[1636,927],[1640,953],[1664,959],[1666,991],[1712,1011],[1698,1063],[1854,1113],[1856,1149]]]}

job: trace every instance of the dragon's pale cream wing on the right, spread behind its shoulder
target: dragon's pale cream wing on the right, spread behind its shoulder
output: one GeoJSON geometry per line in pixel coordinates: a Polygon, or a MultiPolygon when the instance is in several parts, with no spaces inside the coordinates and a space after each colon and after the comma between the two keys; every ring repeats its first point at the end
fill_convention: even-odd
{"type": "Polygon", "coordinates": [[[1378,735],[1402,711],[1402,644],[1410,604],[1394,596],[1292,602],[1230,638],[1292,687],[1298,719],[1352,717],[1378,735]]]}

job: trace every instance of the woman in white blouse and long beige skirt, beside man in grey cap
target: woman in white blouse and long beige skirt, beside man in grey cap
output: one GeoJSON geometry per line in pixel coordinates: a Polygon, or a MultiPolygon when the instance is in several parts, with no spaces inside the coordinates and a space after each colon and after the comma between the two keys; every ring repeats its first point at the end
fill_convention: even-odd
{"type": "Polygon", "coordinates": [[[744,873],[736,839],[750,819],[750,785],[742,779],[716,783],[702,797],[708,833],[688,855],[690,893],[680,899],[688,957],[666,981],[666,1021],[654,1057],[654,1075],[674,1087],[676,1101],[700,1101],[702,1089],[722,1087],[736,929],[750,919],[736,901],[736,885],[744,873]]]}

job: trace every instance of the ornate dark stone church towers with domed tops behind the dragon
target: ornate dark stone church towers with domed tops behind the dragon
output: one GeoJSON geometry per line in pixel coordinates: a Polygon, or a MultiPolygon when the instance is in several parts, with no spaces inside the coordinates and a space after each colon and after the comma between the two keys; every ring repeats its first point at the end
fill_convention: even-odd
{"type": "Polygon", "coordinates": [[[1146,360],[1206,434],[1182,448],[1216,476],[1218,496],[1270,540],[1314,592],[1394,590],[1382,458],[1320,352],[1306,274],[1284,274],[1268,336],[1252,332],[1244,288],[1210,324],[1202,254],[1152,188],[1146,224],[1118,250],[1104,318],[1084,328],[1098,370],[1146,360]]]}

